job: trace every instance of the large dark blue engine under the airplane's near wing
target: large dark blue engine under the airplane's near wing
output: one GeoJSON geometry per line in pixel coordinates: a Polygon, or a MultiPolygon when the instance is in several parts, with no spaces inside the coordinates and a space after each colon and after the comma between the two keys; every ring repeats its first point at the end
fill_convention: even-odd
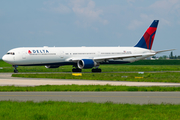
{"type": "Polygon", "coordinates": [[[87,68],[93,68],[95,66],[98,66],[98,64],[92,59],[82,59],[77,62],[77,66],[80,69],[87,69],[87,68]]]}

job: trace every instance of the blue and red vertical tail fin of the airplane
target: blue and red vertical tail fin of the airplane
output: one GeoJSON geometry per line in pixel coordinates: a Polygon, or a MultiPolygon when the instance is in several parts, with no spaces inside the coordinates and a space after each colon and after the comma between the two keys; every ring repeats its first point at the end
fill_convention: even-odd
{"type": "Polygon", "coordinates": [[[134,47],[146,48],[151,50],[158,23],[159,20],[154,20],[151,26],[146,30],[140,41],[134,47]]]}

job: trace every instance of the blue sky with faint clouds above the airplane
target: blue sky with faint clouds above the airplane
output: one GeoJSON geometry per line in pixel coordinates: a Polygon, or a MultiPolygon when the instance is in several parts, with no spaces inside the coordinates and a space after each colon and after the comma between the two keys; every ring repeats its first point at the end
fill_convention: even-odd
{"type": "Polygon", "coordinates": [[[1,0],[0,58],[17,47],[134,46],[153,20],[152,49],[180,55],[180,0],[1,0]]]}

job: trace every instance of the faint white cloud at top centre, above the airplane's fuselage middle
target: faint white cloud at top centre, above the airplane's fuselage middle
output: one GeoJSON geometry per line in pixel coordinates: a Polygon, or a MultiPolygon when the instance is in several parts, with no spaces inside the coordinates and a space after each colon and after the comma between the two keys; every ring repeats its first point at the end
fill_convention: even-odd
{"type": "Polygon", "coordinates": [[[92,26],[93,23],[108,24],[108,20],[103,19],[103,10],[96,7],[93,0],[67,0],[44,2],[45,11],[76,15],[75,23],[83,27],[92,26]]]}

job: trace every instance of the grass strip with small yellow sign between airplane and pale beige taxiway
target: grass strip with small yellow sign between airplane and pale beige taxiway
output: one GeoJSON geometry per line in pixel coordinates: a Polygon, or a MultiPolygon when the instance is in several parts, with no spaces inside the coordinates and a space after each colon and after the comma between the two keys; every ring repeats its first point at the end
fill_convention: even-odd
{"type": "Polygon", "coordinates": [[[180,83],[180,72],[162,72],[162,73],[144,73],[144,74],[82,73],[82,76],[73,76],[71,73],[12,74],[12,77],[180,83]],[[143,77],[143,78],[136,78],[136,77],[143,77]]]}

